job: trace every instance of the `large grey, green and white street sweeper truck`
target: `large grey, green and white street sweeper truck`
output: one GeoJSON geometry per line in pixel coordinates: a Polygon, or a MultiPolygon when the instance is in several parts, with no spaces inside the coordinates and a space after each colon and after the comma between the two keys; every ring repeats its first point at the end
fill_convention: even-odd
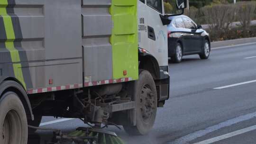
{"type": "Polygon", "coordinates": [[[166,16],[163,0],[0,0],[0,144],[42,116],[147,134],[169,98],[166,16]]]}

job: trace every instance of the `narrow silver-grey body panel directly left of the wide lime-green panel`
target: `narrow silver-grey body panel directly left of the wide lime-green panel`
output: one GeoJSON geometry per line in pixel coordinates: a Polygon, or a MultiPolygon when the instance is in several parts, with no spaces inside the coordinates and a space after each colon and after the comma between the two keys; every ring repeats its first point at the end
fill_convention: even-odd
{"type": "Polygon", "coordinates": [[[82,46],[86,82],[112,79],[111,0],[82,0],[82,46]]]}

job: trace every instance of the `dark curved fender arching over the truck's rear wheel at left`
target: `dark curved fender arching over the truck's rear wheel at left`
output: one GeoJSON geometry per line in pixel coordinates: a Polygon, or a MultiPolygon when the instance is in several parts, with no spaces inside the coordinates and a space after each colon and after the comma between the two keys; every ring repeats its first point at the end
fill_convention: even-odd
{"type": "Polygon", "coordinates": [[[9,80],[1,81],[0,98],[6,92],[6,90],[11,90],[17,93],[19,99],[23,103],[24,108],[26,110],[27,119],[31,118],[31,120],[34,120],[31,104],[28,99],[27,92],[24,90],[24,88],[16,81],[9,81],[9,80]]]}

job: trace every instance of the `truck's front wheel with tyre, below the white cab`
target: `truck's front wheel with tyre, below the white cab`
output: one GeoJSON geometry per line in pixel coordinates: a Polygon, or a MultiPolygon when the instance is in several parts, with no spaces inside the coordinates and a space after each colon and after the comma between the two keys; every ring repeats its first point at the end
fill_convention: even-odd
{"type": "Polygon", "coordinates": [[[151,74],[143,70],[134,83],[136,102],[136,126],[125,125],[129,135],[146,135],[155,123],[157,109],[157,93],[155,81],[151,74]]]}

